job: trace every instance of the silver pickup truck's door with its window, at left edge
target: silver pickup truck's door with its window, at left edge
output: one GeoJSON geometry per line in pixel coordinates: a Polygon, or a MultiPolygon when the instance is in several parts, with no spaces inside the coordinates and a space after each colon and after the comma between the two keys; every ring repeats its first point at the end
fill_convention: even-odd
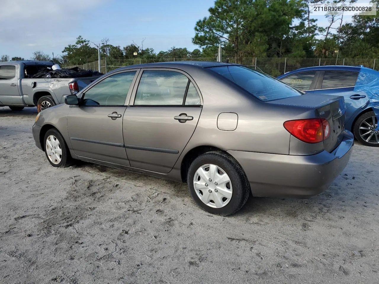
{"type": "Polygon", "coordinates": [[[0,65],[0,101],[5,105],[23,105],[18,81],[18,65],[0,65]]]}

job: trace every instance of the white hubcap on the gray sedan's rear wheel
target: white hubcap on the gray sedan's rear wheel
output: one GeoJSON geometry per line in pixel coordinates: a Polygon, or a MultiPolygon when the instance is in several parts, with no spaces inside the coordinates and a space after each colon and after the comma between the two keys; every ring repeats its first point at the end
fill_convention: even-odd
{"type": "Polygon", "coordinates": [[[233,188],[229,176],[213,164],[202,165],[197,169],[193,187],[197,197],[212,208],[224,207],[232,199],[233,188]]]}

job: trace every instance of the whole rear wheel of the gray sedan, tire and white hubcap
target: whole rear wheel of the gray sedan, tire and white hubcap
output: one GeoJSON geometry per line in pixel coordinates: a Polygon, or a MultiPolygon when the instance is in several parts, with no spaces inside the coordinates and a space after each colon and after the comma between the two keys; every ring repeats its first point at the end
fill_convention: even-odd
{"type": "Polygon", "coordinates": [[[194,201],[202,209],[222,216],[240,210],[250,193],[241,165],[222,151],[197,157],[189,167],[187,183],[194,201]]]}

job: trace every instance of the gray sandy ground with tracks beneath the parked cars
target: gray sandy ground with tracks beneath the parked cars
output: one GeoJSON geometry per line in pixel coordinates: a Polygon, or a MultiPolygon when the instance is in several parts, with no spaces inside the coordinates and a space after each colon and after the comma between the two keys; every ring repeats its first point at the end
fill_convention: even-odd
{"type": "Polygon", "coordinates": [[[0,108],[0,283],[378,283],[379,148],[356,143],[326,192],[249,198],[231,217],[185,184],[50,166],[35,108],[0,108]]]}

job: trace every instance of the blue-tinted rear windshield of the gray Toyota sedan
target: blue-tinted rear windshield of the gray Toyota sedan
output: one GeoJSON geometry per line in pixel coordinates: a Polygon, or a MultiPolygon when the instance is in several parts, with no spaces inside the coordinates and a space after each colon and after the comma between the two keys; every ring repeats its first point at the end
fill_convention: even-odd
{"type": "Polygon", "coordinates": [[[224,76],[262,101],[280,100],[303,94],[276,78],[244,66],[221,66],[209,69],[224,76]]]}

